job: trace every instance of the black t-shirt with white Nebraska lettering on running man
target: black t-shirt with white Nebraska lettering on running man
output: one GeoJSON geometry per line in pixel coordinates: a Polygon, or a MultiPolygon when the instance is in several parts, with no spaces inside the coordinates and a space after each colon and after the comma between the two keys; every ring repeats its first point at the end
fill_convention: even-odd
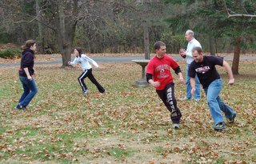
{"type": "Polygon", "coordinates": [[[223,66],[223,58],[218,56],[203,56],[202,62],[191,62],[189,76],[194,78],[195,74],[197,74],[202,87],[207,88],[211,82],[221,78],[215,65],[223,66]]]}

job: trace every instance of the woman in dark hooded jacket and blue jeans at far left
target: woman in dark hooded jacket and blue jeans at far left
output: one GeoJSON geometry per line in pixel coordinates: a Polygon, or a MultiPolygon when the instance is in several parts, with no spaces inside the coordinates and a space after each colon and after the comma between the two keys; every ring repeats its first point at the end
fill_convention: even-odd
{"type": "Polygon", "coordinates": [[[26,45],[22,46],[22,61],[21,67],[18,70],[19,79],[22,82],[23,94],[18,105],[17,110],[26,110],[34,95],[37,94],[38,88],[34,81],[34,52],[36,50],[36,43],[34,40],[26,41],[26,45]]]}

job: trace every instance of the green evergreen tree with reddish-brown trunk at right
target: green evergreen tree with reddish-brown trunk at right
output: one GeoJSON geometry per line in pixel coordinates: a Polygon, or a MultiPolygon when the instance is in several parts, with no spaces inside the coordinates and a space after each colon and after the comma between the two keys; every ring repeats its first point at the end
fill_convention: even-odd
{"type": "Polygon", "coordinates": [[[233,11],[242,12],[242,10],[248,8],[246,11],[250,12],[254,8],[254,3],[251,0],[226,0],[226,2],[223,0],[166,0],[166,2],[179,6],[187,6],[188,10],[182,16],[189,16],[190,19],[186,19],[187,24],[191,25],[191,23],[194,23],[194,28],[202,31],[205,35],[207,34],[214,38],[233,38],[230,42],[234,45],[232,70],[234,74],[238,74],[242,40],[255,32],[255,22],[243,18],[227,18],[225,5],[232,7],[233,11]]]}

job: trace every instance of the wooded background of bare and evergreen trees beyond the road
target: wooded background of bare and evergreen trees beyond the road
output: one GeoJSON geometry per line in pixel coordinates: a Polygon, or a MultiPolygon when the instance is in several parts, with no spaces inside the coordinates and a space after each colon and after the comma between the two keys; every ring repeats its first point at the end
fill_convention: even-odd
{"type": "Polygon", "coordinates": [[[255,0],[2,0],[0,43],[34,38],[38,53],[62,54],[67,66],[74,46],[87,53],[136,53],[150,58],[154,42],[168,53],[186,48],[184,33],[209,54],[255,51],[255,0]]]}

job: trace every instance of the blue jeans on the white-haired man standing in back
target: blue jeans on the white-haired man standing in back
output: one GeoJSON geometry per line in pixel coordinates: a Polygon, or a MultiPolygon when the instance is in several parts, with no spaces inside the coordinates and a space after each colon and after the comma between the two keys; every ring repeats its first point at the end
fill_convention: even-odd
{"type": "MultiPolygon", "coordinates": [[[[190,64],[186,65],[186,98],[192,98],[191,95],[191,85],[190,85],[190,76],[189,76],[189,68],[190,68],[190,64]]],[[[201,98],[201,87],[200,87],[200,82],[198,79],[198,76],[195,75],[195,92],[194,92],[194,98],[195,99],[200,99],[201,98]]]]}

